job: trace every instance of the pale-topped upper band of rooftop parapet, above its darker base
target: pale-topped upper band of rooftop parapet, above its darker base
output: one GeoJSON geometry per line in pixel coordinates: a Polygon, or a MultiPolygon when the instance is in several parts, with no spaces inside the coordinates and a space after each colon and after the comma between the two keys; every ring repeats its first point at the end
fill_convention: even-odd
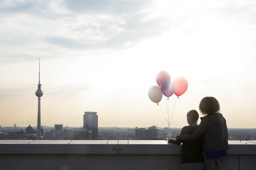
{"type": "MultiPolygon", "coordinates": [[[[256,141],[229,141],[228,155],[256,155],[256,141]]],[[[0,154],[180,155],[166,140],[2,140],[0,154]]]]}

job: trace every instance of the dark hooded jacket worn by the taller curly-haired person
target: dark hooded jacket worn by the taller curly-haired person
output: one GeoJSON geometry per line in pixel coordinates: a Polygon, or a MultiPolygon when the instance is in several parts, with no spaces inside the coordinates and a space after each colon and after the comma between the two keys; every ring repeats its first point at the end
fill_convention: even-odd
{"type": "Polygon", "coordinates": [[[190,135],[180,135],[179,139],[195,140],[201,134],[204,134],[203,150],[229,149],[227,123],[221,113],[201,117],[201,123],[197,130],[190,135]]]}

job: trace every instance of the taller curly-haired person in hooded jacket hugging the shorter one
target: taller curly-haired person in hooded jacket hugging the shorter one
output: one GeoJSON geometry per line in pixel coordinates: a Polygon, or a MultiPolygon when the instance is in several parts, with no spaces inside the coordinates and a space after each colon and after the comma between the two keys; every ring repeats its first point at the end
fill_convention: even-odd
{"type": "Polygon", "coordinates": [[[228,130],[225,118],[220,112],[220,104],[214,97],[205,97],[199,104],[204,115],[201,123],[192,134],[178,135],[177,139],[191,141],[204,134],[203,151],[206,170],[218,169],[227,155],[228,130]]]}

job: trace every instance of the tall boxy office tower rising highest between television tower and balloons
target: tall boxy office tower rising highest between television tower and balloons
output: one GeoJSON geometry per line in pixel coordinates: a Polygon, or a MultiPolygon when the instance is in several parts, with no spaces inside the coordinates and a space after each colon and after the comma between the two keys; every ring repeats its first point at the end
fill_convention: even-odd
{"type": "Polygon", "coordinates": [[[97,112],[84,112],[84,128],[92,131],[92,139],[98,139],[97,112]]]}

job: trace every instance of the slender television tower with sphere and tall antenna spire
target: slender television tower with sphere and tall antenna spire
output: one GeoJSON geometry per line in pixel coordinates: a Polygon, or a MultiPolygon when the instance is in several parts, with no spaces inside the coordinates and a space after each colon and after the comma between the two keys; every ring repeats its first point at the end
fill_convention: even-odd
{"type": "Polygon", "coordinates": [[[38,97],[38,112],[37,112],[37,139],[41,139],[41,104],[40,100],[43,96],[43,91],[41,90],[40,84],[40,58],[39,58],[39,83],[38,88],[36,90],[36,96],[38,97]]]}

